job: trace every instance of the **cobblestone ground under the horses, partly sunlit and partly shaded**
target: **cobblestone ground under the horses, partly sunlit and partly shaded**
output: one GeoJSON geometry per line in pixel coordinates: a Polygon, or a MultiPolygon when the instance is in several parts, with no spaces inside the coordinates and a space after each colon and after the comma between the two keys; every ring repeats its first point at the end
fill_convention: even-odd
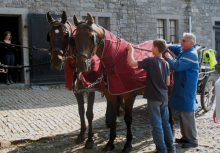
{"type": "MultiPolygon", "coordinates": [[[[49,90],[4,89],[0,90],[0,153],[96,153],[108,142],[109,129],[105,126],[106,99],[96,92],[94,105],[95,147],[85,149],[85,142],[76,144],[80,120],[77,101],[72,91],[63,86],[49,90]],[[11,142],[11,145],[6,145],[11,142]]],[[[199,96],[197,97],[199,101],[199,96]]],[[[85,103],[85,107],[87,104],[85,103]]],[[[200,104],[196,112],[199,147],[183,149],[177,153],[220,152],[220,124],[212,119],[213,109],[205,113],[200,104]]],[[[212,108],[214,108],[213,106],[212,108]]],[[[175,137],[180,137],[177,112],[174,113],[175,137]]],[[[126,126],[120,117],[114,153],[121,152],[126,142],[126,126]]],[[[88,123],[87,123],[88,125],[88,123]]],[[[152,128],[147,114],[147,101],[138,96],[133,109],[132,152],[154,152],[152,128]]]]}

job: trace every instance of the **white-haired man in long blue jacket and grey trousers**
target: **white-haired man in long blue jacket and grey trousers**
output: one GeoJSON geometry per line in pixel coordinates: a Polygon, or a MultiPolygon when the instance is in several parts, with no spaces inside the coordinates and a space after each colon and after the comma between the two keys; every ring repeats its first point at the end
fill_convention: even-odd
{"type": "Polygon", "coordinates": [[[182,148],[198,147],[195,110],[199,64],[195,43],[194,34],[184,33],[181,47],[168,47],[177,56],[177,60],[171,59],[168,53],[165,54],[170,68],[174,70],[174,86],[169,107],[177,110],[179,114],[182,137],[175,139],[175,142],[183,143],[182,148]]]}

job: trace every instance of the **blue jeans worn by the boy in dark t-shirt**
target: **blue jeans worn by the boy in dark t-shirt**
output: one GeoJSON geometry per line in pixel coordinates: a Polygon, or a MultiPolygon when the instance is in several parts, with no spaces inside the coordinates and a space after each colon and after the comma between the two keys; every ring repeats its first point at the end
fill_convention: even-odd
{"type": "Polygon", "coordinates": [[[159,153],[166,153],[167,148],[175,149],[173,134],[169,123],[168,102],[148,99],[150,123],[153,127],[153,139],[159,153]]]}

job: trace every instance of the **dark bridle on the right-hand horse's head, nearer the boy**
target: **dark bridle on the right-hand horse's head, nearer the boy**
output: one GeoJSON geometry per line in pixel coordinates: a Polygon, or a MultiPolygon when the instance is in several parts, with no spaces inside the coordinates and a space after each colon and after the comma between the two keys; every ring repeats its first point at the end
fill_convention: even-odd
{"type": "MultiPolygon", "coordinates": [[[[88,60],[90,60],[90,59],[92,58],[93,54],[94,54],[94,51],[95,51],[96,49],[98,49],[99,46],[104,42],[105,31],[102,29],[104,35],[103,35],[102,39],[99,41],[99,39],[98,39],[98,33],[96,32],[96,30],[95,30],[92,26],[89,26],[88,24],[86,24],[85,22],[80,23],[75,30],[77,30],[77,29],[83,29],[83,28],[89,28],[89,29],[91,29],[91,30],[93,31],[93,35],[94,35],[94,45],[93,45],[93,48],[92,48],[92,51],[91,51],[91,54],[90,54],[90,55],[87,55],[87,54],[84,53],[84,52],[78,52],[78,51],[75,49],[75,50],[76,50],[76,55],[75,55],[75,56],[77,57],[77,56],[83,55],[83,56],[85,56],[88,60]]],[[[75,30],[73,31],[73,33],[75,32],[75,30]]]]}

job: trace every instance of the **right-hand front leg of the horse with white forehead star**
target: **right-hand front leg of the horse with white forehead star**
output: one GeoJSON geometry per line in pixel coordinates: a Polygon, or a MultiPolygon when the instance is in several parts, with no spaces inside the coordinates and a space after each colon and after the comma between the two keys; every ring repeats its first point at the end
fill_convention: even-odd
{"type": "Polygon", "coordinates": [[[86,111],[86,117],[89,123],[88,139],[85,145],[86,149],[92,149],[94,147],[94,141],[92,138],[94,135],[93,130],[92,130],[94,99],[95,99],[95,92],[90,92],[88,96],[88,105],[87,105],[87,111],[86,111]]]}

